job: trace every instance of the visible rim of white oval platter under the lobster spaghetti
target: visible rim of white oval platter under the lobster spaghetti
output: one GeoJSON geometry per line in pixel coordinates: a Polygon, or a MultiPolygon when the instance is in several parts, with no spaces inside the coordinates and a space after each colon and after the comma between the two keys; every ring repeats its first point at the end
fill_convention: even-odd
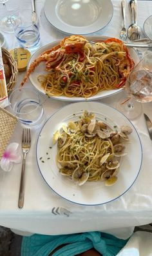
{"type": "MultiPolygon", "coordinates": [[[[93,40],[106,40],[108,39],[109,37],[106,37],[106,36],[101,36],[101,35],[96,35],[96,36],[88,36],[86,37],[89,41],[93,41],[93,40]]],[[[35,59],[37,59],[37,57],[39,55],[41,55],[44,51],[46,50],[49,50],[51,49],[53,46],[56,46],[57,44],[59,44],[61,40],[59,41],[55,41],[53,43],[49,43],[49,44],[46,44],[45,46],[39,48],[39,50],[37,50],[33,55],[32,57],[30,58],[30,61],[28,63],[28,67],[30,66],[30,64],[32,63],[32,61],[34,61],[35,59]]],[[[138,54],[137,52],[133,49],[133,48],[129,48],[129,53],[131,55],[131,57],[133,58],[133,61],[135,62],[135,64],[138,63],[139,61],[139,57],[138,57],[138,54]]],[[[43,74],[47,74],[48,72],[46,72],[46,66],[45,66],[45,63],[42,62],[39,64],[39,66],[37,66],[34,70],[34,72],[32,72],[32,74],[30,74],[30,81],[31,83],[33,84],[33,86],[35,86],[35,88],[37,90],[39,90],[39,92],[45,94],[45,91],[44,89],[41,87],[41,83],[39,83],[37,81],[37,77],[39,75],[43,75],[43,74]]],[[[104,98],[104,97],[108,97],[110,95],[113,95],[113,94],[117,94],[118,92],[120,92],[120,90],[122,90],[122,88],[120,89],[116,89],[116,90],[104,90],[104,91],[101,91],[101,92],[98,92],[96,95],[93,95],[91,97],[89,97],[88,99],[85,99],[84,97],[67,97],[65,95],[61,95],[61,96],[50,96],[52,97],[53,99],[58,99],[58,100],[61,100],[61,101],[92,101],[92,100],[97,100],[97,99],[101,99],[101,98],[104,98]]]]}

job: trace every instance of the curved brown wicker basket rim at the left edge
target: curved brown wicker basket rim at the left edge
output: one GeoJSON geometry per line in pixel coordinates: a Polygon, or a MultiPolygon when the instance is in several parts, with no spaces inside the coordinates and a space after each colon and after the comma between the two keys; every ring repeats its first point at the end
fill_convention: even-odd
{"type": "Polygon", "coordinates": [[[7,91],[8,91],[8,94],[10,94],[10,92],[12,92],[17,82],[17,77],[18,77],[17,63],[16,61],[14,61],[14,58],[12,57],[10,52],[8,52],[8,50],[6,50],[5,48],[1,48],[1,50],[2,50],[2,55],[5,55],[6,59],[8,59],[8,63],[11,68],[12,75],[10,77],[9,83],[7,83],[7,91]]]}

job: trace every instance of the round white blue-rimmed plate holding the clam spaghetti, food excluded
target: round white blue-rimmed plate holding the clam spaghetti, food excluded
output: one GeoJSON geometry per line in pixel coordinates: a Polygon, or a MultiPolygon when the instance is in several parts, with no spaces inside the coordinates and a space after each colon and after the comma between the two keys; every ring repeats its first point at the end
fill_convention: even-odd
{"type": "Polygon", "coordinates": [[[115,108],[103,103],[84,102],[68,104],[57,110],[46,121],[39,138],[37,139],[37,164],[44,181],[58,195],[68,201],[84,205],[97,205],[113,201],[131,188],[137,179],[142,164],[142,145],[133,124],[115,108]],[[104,182],[86,182],[82,186],[75,184],[69,177],[61,175],[55,157],[57,144],[52,146],[53,133],[62,127],[62,123],[70,120],[76,121],[84,110],[94,112],[98,120],[103,120],[109,126],[129,125],[133,132],[129,134],[129,142],[126,143],[128,153],[120,160],[120,172],[118,180],[113,186],[105,186],[104,182]]]}

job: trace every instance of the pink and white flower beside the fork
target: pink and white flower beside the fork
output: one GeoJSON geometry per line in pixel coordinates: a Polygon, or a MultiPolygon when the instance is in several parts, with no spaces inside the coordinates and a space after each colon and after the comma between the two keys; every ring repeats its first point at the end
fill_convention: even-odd
{"type": "Polygon", "coordinates": [[[22,157],[19,153],[19,144],[18,143],[10,143],[5,152],[3,153],[3,157],[0,161],[0,165],[3,171],[10,172],[13,167],[13,162],[21,162],[22,157]]]}

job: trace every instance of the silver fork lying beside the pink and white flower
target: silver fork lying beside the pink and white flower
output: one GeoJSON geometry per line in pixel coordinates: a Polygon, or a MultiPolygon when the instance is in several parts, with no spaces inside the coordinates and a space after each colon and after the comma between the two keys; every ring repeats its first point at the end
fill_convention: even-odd
{"type": "Polygon", "coordinates": [[[21,181],[20,181],[20,188],[19,188],[19,201],[18,201],[19,208],[23,208],[23,204],[24,204],[25,162],[26,162],[26,155],[30,150],[30,146],[31,146],[30,129],[29,128],[24,128],[23,129],[23,134],[22,134],[23,164],[22,164],[21,181]]]}

